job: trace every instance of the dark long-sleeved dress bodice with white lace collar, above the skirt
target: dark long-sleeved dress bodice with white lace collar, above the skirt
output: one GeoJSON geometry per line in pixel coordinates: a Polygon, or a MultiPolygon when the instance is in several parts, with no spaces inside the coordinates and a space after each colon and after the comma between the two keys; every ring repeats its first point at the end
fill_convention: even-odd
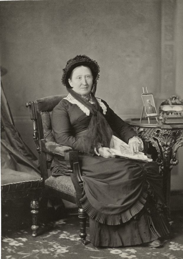
{"type": "MultiPolygon", "coordinates": [[[[137,135],[103,100],[97,98],[99,111],[104,116],[112,131],[126,143],[129,138],[137,135]]],[[[94,104],[93,104],[94,105],[94,104]]],[[[73,149],[84,152],[82,132],[89,126],[92,114],[85,106],[74,100],[62,99],[52,111],[52,128],[55,141],[58,144],[71,146],[73,149]]]]}

